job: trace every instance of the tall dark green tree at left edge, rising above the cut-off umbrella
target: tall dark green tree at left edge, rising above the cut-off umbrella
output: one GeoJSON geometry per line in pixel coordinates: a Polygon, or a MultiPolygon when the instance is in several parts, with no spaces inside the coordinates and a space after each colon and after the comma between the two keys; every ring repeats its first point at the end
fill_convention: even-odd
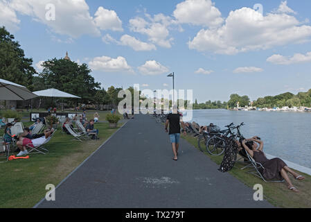
{"type": "Polygon", "coordinates": [[[21,45],[14,40],[4,26],[0,28],[0,78],[33,90],[33,59],[26,58],[21,45]]]}

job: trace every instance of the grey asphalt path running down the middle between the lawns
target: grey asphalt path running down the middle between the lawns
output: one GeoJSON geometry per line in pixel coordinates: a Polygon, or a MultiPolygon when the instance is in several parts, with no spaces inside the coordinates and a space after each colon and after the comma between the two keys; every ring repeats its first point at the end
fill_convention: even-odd
{"type": "Polygon", "coordinates": [[[136,115],[35,207],[272,207],[184,139],[179,160],[164,126],[136,115]]]}

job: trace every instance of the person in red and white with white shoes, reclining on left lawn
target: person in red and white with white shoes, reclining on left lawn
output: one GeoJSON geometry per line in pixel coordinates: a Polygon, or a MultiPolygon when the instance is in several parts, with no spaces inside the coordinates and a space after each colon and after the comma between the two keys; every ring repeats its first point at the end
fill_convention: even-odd
{"type": "Polygon", "coordinates": [[[44,144],[44,142],[46,142],[46,139],[48,139],[48,137],[51,137],[53,132],[54,132],[53,128],[52,129],[47,128],[46,130],[44,130],[44,135],[37,139],[28,139],[26,137],[19,137],[19,141],[16,144],[19,150],[21,151],[19,152],[19,154],[17,154],[17,156],[19,157],[21,155],[28,154],[26,146],[30,146],[33,148],[37,146],[41,146],[42,144],[44,144]]]}

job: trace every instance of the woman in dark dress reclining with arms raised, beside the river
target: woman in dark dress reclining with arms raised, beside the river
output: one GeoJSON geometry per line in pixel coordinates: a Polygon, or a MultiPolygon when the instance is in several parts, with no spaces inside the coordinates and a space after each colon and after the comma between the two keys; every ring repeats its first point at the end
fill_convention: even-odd
{"type": "Polygon", "coordinates": [[[290,167],[287,167],[287,164],[280,158],[274,158],[272,160],[267,159],[265,153],[263,153],[263,141],[260,140],[259,137],[244,139],[242,141],[242,147],[245,148],[247,153],[249,153],[256,162],[263,165],[265,169],[260,169],[260,173],[264,178],[267,180],[284,179],[288,184],[288,189],[298,192],[298,189],[292,185],[290,178],[287,176],[287,172],[292,174],[296,180],[303,180],[305,178],[290,169],[290,167]]]}

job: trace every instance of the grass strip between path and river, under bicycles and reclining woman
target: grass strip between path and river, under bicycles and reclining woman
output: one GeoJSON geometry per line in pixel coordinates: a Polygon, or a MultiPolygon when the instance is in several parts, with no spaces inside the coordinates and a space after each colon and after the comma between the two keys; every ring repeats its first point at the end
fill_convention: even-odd
{"type": "MultiPolygon", "coordinates": [[[[186,137],[183,135],[182,138],[186,139],[190,144],[198,148],[197,146],[197,138],[191,137],[187,135],[186,137]]],[[[208,155],[207,151],[204,152],[208,155]]],[[[222,162],[222,156],[211,156],[208,155],[216,164],[222,162]]],[[[254,185],[260,184],[263,185],[263,194],[265,199],[272,203],[272,205],[276,207],[311,207],[311,176],[297,172],[305,177],[305,180],[295,180],[292,175],[290,175],[290,179],[292,180],[293,185],[299,189],[299,193],[295,193],[294,191],[290,191],[287,188],[286,182],[265,182],[262,179],[246,173],[249,169],[240,170],[245,165],[236,164],[235,167],[229,173],[234,177],[238,178],[241,182],[243,182],[248,187],[253,188],[254,185]]],[[[204,169],[202,169],[204,170],[204,169]]],[[[295,170],[296,171],[296,170],[295,170]]]]}

